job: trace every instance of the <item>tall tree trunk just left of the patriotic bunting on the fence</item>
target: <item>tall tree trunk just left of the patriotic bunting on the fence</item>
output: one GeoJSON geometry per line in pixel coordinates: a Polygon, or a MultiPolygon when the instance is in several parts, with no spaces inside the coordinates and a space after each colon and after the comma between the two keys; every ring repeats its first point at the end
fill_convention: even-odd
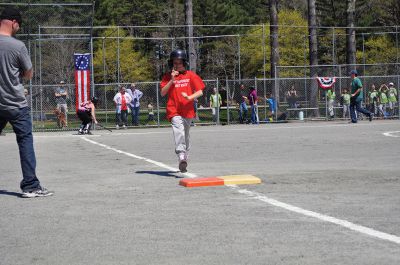
{"type": "Polygon", "coordinates": [[[318,68],[317,68],[318,41],[317,41],[317,16],[316,16],[315,0],[308,0],[308,34],[309,34],[310,77],[311,77],[310,107],[317,108],[313,112],[313,116],[319,117],[318,84],[316,81],[316,78],[318,76],[318,68]]]}

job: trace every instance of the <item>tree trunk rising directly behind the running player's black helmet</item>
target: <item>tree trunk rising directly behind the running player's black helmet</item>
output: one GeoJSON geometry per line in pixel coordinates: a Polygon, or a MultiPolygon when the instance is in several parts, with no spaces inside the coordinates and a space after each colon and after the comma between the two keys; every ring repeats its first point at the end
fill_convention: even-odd
{"type": "Polygon", "coordinates": [[[196,72],[196,49],[193,41],[193,3],[192,0],[185,0],[185,25],[186,25],[186,50],[188,52],[189,68],[196,72]]]}

